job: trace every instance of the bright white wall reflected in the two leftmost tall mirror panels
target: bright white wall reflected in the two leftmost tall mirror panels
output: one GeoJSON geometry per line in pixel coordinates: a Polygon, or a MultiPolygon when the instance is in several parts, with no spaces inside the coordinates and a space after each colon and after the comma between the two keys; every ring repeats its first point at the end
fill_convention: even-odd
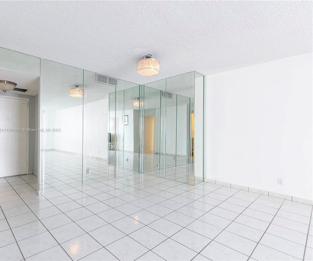
{"type": "MultiPolygon", "coordinates": [[[[108,158],[108,99],[86,106],[86,156],[108,158]]],[[[45,111],[45,128],[61,129],[46,132],[45,150],[54,149],[82,154],[83,106],[45,111]]]]}

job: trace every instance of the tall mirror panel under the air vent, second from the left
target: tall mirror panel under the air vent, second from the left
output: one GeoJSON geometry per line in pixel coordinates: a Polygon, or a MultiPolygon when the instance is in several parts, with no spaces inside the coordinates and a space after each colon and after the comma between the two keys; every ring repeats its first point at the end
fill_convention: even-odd
{"type": "Polygon", "coordinates": [[[84,71],[84,88],[85,180],[89,184],[114,178],[115,165],[109,164],[115,152],[114,132],[109,131],[109,94],[115,93],[115,86],[97,82],[95,73],[84,71]]]}

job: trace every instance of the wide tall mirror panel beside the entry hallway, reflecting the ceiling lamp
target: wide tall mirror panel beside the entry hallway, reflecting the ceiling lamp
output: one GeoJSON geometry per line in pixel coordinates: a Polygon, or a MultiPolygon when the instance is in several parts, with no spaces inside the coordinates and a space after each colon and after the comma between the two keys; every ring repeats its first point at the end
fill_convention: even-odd
{"type": "Polygon", "coordinates": [[[41,190],[47,193],[83,183],[84,77],[82,69],[49,60],[42,60],[42,69],[41,190]],[[79,89],[79,97],[69,95],[71,88],[79,89]]]}

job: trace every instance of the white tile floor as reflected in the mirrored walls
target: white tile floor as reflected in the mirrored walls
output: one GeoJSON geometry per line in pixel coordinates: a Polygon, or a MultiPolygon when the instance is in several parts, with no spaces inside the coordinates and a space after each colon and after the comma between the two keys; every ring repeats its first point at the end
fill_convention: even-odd
{"type": "MultiPolygon", "coordinates": [[[[138,154],[131,152],[109,151],[109,158],[112,162],[117,157],[117,177],[125,176],[126,174],[133,175],[138,171],[138,154]],[[122,159],[125,159],[124,163],[122,159]],[[126,158],[128,161],[126,161],[126,158]]],[[[145,174],[165,178],[167,180],[176,181],[179,183],[194,184],[193,164],[186,163],[186,157],[178,156],[176,158],[177,165],[173,156],[162,158],[162,164],[166,162],[166,174],[163,169],[157,169],[156,163],[159,162],[160,155],[145,154],[144,169],[145,174]]],[[[90,168],[91,174],[86,177],[86,184],[95,181],[103,181],[114,178],[114,166],[108,165],[105,159],[86,157],[86,168],[90,168]]],[[[42,181],[44,193],[70,189],[82,184],[82,157],[61,152],[61,151],[45,151],[45,180],[42,181]]],[[[32,184],[35,187],[37,183],[32,184]]]]}

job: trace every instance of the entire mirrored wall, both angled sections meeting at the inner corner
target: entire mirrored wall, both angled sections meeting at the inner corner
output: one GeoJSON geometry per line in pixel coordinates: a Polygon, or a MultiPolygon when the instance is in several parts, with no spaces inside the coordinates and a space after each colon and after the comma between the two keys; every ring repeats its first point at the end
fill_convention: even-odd
{"type": "Polygon", "coordinates": [[[40,193],[134,174],[203,181],[196,72],[138,85],[42,60],[40,114],[40,193]]]}

